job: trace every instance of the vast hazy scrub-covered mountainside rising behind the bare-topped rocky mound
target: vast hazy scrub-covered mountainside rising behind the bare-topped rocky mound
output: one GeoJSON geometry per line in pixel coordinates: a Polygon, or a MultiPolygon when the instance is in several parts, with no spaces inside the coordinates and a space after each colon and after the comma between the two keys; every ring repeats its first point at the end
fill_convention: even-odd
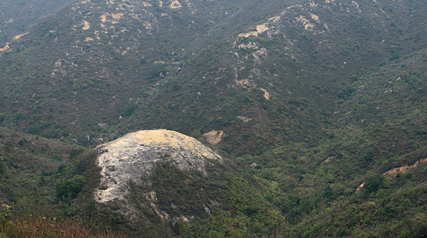
{"type": "Polygon", "coordinates": [[[355,190],[426,157],[424,1],[62,3],[36,13],[40,4],[22,1],[4,14],[28,6],[40,19],[57,9],[31,27],[28,17],[1,28],[1,125],[87,147],[175,130],[246,169],[257,163],[253,176],[283,193],[264,199],[293,234],[317,224],[307,235],[336,235],[332,211],[342,216],[341,236],[378,224],[389,232],[372,235],[421,229],[421,166],[355,190]],[[419,206],[384,210],[411,191],[419,206]],[[387,223],[384,213],[399,209],[413,220],[387,223]]]}

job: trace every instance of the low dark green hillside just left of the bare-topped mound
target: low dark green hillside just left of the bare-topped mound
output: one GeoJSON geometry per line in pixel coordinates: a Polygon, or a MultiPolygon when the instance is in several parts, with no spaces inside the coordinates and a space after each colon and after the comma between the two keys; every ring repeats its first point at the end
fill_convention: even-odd
{"type": "Polygon", "coordinates": [[[0,127],[0,200],[28,209],[50,206],[55,185],[67,171],[76,146],[0,127]]]}

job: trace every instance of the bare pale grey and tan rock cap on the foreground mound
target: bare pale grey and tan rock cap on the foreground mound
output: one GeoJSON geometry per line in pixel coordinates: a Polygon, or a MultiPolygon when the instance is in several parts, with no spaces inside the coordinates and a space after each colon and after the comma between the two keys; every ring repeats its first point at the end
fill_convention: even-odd
{"type": "Polygon", "coordinates": [[[206,174],[209,160],[223,160],[196,139],[169,130],[130,133],[97,149],[101,152],[97,162],[102,178],[94,196],[102,203],[125,200],[130,193],[128,182],[144,183],[159,163],[169,162],[177,169],[195,169],[206,174]]]}

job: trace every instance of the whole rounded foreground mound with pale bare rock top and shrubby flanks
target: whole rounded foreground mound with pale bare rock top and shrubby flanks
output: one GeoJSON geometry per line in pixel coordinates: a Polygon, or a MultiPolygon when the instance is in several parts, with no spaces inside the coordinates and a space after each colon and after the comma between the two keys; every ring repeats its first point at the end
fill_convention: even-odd
{"type": "Polygon", "coordinates": [[[280,194],[275,183],[178,132],[126,134],[76,160],[85,164],[87,183],[73,206],[97,207],[94,216],[137,237],[178,237],[183,226],[206,237],[208,223],[219,223],[210,231],[217,236],[230,229],[260,235],[283,219],[265,199],[280,194]],[[232,220],[235,228],[227,225],[232,220]]]}

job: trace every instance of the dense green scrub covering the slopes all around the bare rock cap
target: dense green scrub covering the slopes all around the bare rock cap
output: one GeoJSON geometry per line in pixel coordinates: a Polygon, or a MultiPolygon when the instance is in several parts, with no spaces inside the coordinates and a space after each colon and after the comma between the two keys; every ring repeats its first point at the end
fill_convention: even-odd
{"type": "Polygon", "coordinates": [[[426,237],[426,164],[384,174],[427,158],[425,1],[147,2],[55,5],[2,30],[1,202],[146,237],[426,237]],[[131,184],[134,219],[94,202],[86,148],[153,128],[204,144],[223,130],[212,147],[232,161],[160,165],[131,184]]]}

